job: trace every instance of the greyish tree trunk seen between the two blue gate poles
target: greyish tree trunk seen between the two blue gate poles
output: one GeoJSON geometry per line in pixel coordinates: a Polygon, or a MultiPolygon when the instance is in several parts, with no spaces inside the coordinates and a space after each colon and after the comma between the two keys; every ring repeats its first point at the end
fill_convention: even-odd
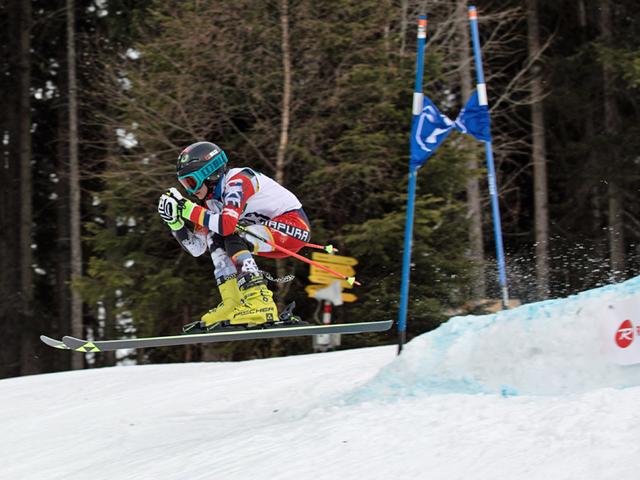
{"type": "MultiPolygon", "coordinates": [[[[471,48],[469,38],[469,22],[467,18],[466,0],[458,0],[458,15],[456,19],[458,35],[460,37],[460,93],[462,103],[471,97],[473,83],[471,79],[471,48]]],[[[480,195],[480,182],[476,172],[478,171],[478,159],[475,153],[468,156],[467,168],[472,175],[467,180],[467,217],[469,218],[469,256],[473,262],[473,282],[471,294],[474,299],[486,297],[486,284],[484,277],[484,241],[482,234],[482,198],[480,195]]]]}

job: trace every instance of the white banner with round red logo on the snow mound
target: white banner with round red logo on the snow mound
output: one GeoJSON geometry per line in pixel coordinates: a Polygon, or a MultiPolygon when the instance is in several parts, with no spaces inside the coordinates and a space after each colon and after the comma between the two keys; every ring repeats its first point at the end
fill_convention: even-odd
{"type": "Polygon", "coordinates": [[[640,363],[640,295],[607,302],[599,323],[602,346],[618,365],[640,363]]]}

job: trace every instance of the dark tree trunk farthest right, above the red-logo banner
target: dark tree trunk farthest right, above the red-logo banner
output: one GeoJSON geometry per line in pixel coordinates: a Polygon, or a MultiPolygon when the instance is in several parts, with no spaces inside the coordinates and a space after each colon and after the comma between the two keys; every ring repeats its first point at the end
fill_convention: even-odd
{"type": "MultiPolygon", "coordinates": [[[[612,46],[613,22],[611,20],[611,2],[603,0],[600,8],[600,32],[607,47],[612,46]]],[[[603,65],[604,80],[604,122],[605,132],[615,136],[620,131],[620,114],[613,94],[613,71],[608,60],[603,65]]],[[[617,149],[613,147],[614,158],[617,159],[617,149]]],[[[608,192],[608,223],[609,223],[609,258],[611,278],[619,281],[625,271],[624,252],[624,205],[622,190],[615,173],[611,173],[607,182],[608,192]]]]}

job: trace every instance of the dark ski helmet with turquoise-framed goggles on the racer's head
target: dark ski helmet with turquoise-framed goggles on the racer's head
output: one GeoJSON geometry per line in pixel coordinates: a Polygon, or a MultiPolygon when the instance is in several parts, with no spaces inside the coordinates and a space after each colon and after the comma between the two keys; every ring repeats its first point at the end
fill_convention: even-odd
{"type": "Polygon", "coordinates": [[[227,156],[216,144],[197,142],[178,156],[176,175],[188,193],[195,193],[205,182],[214,187],[226,171],[227,156]]]}

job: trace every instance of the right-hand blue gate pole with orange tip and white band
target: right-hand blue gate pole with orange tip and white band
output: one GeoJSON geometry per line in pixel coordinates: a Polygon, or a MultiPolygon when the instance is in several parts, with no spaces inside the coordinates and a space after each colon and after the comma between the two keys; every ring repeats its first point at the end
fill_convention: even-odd
{"type": "MultiPolygon", "coordinates": [[[[476,90],[478,92],[478,103],[488,105],[487,85],[484,80],[482,69],[482,54],[480,52],[480,34],[478,33],[478,11],[476,7],[469,7],[469,23],[471,24],[471,38],[473,40],[473,56],[476,63],[476,90]]],[[[498,189],[496,187],[496,170],[493,164],[493,147],[491,139],[485,141],[485,152],[487,156],[487,170],[489,181],[489,196],[491,197],[491,211],[493,214],[493,231],[496,243],[496,256],[498,259],[498,281],[502,293],[502,307],[509,308],[509,289],[507,287],[507,273],[504,259],[504,247],[502,245],[502,227],[500,225],[500,206],[498,204],[498,189]]]]}

